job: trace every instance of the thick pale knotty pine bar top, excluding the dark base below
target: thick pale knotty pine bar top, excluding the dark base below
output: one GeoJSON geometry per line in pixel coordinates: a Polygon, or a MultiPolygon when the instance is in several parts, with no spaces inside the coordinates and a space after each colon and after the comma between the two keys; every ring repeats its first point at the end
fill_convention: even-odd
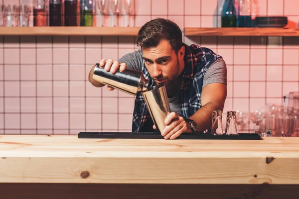
{"type": "Polygon", "coordinates": [[[0,135],[0,183],[299,184],[299,137],[0,135]]]}

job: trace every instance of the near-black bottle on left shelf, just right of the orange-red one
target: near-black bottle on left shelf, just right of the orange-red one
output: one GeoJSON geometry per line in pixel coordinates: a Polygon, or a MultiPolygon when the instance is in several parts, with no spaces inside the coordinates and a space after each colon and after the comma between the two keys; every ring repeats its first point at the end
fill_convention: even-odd
{"type": "Polygon", "coordinates": [[[50,0],[50,26],[64,26],[63,0],[50,0]]]}

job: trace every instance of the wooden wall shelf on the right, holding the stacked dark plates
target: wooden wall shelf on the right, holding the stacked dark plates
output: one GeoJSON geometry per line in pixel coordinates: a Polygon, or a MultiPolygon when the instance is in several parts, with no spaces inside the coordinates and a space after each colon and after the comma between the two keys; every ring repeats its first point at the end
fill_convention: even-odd
{"type": "Polygon", "coordinates": [[[186,36],[299,36],[299,28],[185,28],[186,36]]]}

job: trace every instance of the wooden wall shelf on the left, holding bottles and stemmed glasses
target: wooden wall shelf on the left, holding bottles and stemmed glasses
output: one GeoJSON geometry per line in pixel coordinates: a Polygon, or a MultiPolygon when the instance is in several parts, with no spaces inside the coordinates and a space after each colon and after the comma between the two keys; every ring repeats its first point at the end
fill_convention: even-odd
{"type": "Polygon", "coordinates": [[[0,27],[0,35],[137,36],[140,27],[0,27]]]}

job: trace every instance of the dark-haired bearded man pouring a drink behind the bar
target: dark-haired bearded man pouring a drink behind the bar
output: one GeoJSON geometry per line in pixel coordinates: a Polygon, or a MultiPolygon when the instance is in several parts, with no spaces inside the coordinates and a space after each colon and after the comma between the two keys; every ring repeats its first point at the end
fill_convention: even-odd
{"type": "MultiPolygon", "coordinates": [[[[170,20],[148,21],[138,33],[141,50],[124,55],[118,61],[102,59],[100,66],[115,74],[127,68],[142,71],[149,85],[164,84],[171,113],[165,118],[161,135],[174,139],[181,133],[206,131],[212,111],[223,110],[227,95],[226,65],[222,57],[208,48],[186,45],[179,27],[170,20]]],[[[93,80],[95,87],[104,85],[93,80]]],[[[108,90],[113,88],[108,87],[108,90]]],[[[132,131],[155,129],[141,93],[136,96],[132,131]]]]}

